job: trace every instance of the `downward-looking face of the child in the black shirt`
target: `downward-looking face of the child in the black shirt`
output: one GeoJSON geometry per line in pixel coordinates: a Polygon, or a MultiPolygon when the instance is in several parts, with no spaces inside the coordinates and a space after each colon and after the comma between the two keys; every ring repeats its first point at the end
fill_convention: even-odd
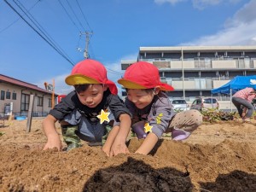
{"type": "Polygon", "coordinates": [[[80,102],[89,108],[96,108],[102,102],[104,91],[108,88],[102,84],[90,84],[87,90],[81,91],[78,94],[80,102]]]}

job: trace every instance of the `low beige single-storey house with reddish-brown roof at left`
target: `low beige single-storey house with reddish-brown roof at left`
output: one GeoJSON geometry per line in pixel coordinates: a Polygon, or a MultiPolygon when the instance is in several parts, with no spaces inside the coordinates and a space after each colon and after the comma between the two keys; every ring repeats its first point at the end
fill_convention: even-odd
{"type": "Polygon", "coordinates": [[[30,98],[33,95],[32,116],[43,117],[52,108],[52,98],[56,101],[56,94],[18,79],[0,74],[0,116],[14,114],[27,116],[30,98]]]}

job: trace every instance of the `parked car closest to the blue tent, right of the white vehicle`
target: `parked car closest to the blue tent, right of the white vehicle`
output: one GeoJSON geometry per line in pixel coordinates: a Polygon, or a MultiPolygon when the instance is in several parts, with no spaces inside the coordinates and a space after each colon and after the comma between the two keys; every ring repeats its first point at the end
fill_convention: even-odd
{"type": "Polygon", "coordinates": [[[206,108],[219,108],[218,100],[214,97],[201,97],[192,102],[190,109],[203,110],[206,108]]]}

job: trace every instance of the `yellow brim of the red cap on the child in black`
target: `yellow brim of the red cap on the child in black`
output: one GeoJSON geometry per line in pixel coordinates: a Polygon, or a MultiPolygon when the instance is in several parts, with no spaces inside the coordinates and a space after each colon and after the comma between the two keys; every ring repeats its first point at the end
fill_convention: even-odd
{"type": "Polygon", "coordinates": [[[101,84],[96,79],[92,79],[89,77],[86,77],[84,75],[75,74],[75,75],[69,75],[65,79],[66,84],[68,85],[75,85],[75,84],[101,84]]]}

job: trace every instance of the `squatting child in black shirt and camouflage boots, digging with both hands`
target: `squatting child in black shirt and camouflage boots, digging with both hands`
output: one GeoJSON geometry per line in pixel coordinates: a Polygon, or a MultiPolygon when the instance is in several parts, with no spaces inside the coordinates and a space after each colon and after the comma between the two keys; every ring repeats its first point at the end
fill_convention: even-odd
{"type": "Polygon", "coordinates": [[[124,102],[117,96],[116,85],[108,80],[106,68],[99,61],[84,60],[73,67],[66,83],[74,89],[44,119],[44,133],[48,139],[44,146],[61,150],[61,139],[55,130],[55,122],[61,123],[63,140],[67,150],[78,148],[81,141],[102,143],[106,154],[129,153],[125,145],[131,128],[131,117],[124,102]],[[113,119],[119,126],[112,126],[113,119]]]}

